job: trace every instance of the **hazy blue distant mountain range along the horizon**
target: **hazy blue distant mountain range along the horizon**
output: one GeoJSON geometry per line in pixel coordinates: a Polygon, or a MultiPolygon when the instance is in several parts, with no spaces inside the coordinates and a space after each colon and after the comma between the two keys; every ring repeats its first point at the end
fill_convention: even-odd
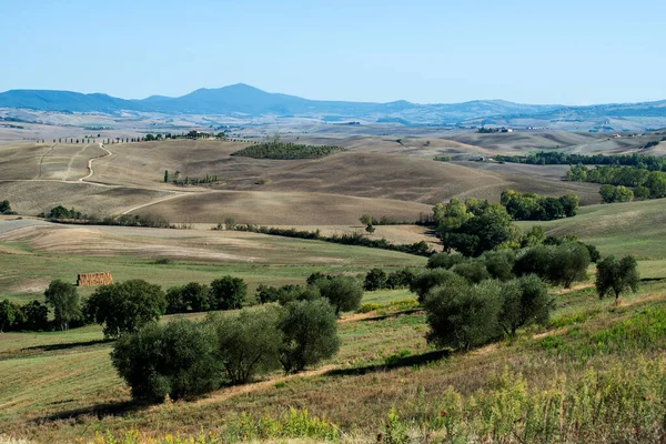
{"type": "Polygon", "coordinates": [[[82,94],[71,91],[11,90],[0,93],[0,108],[27,108],[59,112],[120,111],[164,114],[316,117],[324,121],[360,119],[370,122],[402,124],[549,124],[612,130],[666,125],[666,100],[643,103],[599,104],[589,107],[539,105],[504,100],[477,100],[452,104],[418,104],[404,100],[390,103],[307,100],[295,95],[270,93],[239,83],[219,89],[199,89],[186,95],[152,95],[125,100],[108,94],[82,94]]]}

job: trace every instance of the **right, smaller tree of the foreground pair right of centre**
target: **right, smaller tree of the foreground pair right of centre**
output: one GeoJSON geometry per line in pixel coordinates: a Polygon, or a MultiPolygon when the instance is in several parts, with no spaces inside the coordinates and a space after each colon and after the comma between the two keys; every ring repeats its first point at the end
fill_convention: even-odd
{"type": "Polygon", "coordinates": [[[515,335],[516,330],[529,324],[544,325],[555,307],[544,282],[534,274],[508,281],[502,286],[500,325],[504,333],[515,335]]]}

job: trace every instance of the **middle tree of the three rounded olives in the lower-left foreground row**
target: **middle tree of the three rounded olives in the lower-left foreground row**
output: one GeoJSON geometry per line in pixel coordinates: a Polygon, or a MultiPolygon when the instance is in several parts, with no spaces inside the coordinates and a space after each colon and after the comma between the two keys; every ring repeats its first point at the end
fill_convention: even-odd
{"type": "Polygon", "coordinates": [[[278,329],[275,306],[241,311],[239,314],[209,314],[218,335],[215,356],[232,384],[245,384],[258,373],[280,369],[283,333],[278,329]]]}

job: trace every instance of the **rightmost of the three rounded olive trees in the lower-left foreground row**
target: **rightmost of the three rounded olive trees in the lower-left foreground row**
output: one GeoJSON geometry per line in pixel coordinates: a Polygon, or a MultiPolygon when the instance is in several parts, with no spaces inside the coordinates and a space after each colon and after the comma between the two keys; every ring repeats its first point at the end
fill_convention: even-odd
{"type": "Polygon", "coordinates": [[[296,373],[337,353],[337,316],[323,299],[284,305],[279,329],[283,333],[280,363],[285,373],[296,373]]]}

